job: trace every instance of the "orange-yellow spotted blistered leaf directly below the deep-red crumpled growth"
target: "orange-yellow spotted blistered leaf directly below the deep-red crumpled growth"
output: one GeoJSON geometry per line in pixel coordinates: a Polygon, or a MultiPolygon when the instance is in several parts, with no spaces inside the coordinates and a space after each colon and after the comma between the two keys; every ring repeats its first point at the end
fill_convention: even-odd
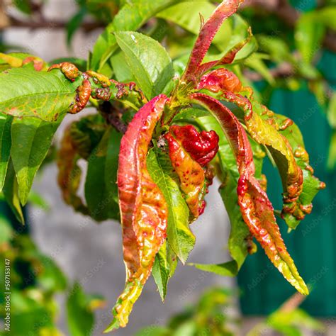
{"type": "Polygon", "coordinates": [[[180,180],[181,191],[185,194],[186,203],[194,218],[204,211],[204,186],[206,177],[201,167],[187,152],[181,142],[172,133],[164,135],[168,142],[169,157],[180,180]]]}

